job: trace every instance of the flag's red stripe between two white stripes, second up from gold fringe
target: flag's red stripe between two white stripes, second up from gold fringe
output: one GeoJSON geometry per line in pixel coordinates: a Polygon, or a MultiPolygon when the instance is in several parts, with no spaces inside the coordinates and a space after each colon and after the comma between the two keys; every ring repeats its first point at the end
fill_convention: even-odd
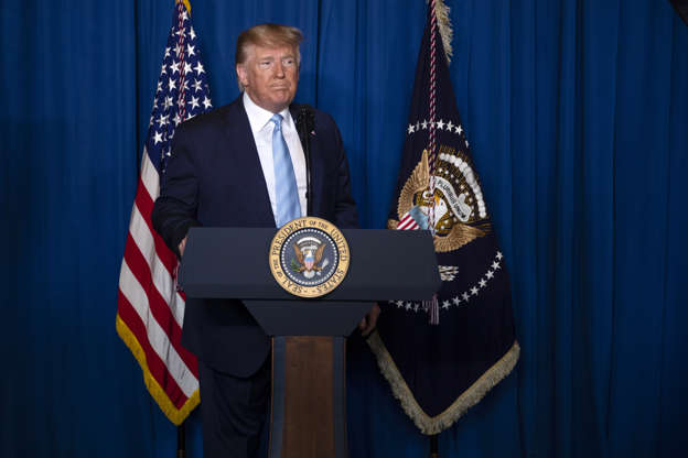
{"type": "MultiPolygon", "coordinates": [[[[168,335],[170,342],[179,353],[180,358],[184,361],[186,367],[192,371],[196,379],[198,378],[198,370],[196,367],[195,357],[182,347],[182,328],[179,326],[170,307],[168,306],[166,301],[155,285],[153,284],[153,279],[151,276],[148,263],[141,254],[139,247],[136,244],[131,235],[127,237],[127,244],[125,248],[125,260],[131,273],[137,279],[143,291],[146,291],[146,295],[148,296],[149,307],[151,313],[162,330],[168,335]]],[[[173,293],[176,294],[176,293],[173,293]]]]}

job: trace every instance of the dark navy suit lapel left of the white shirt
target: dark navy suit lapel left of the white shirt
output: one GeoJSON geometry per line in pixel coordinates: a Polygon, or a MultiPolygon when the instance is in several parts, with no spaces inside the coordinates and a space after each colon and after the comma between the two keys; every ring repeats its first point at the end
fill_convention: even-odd
{"type": "Polygon", "coordinates": [[[272,215],[272,205],[270,204],[270,195],[268,194],[268,185],[262,174],[262,166],[258,157],[256,149],[256,140],[251,132],[248,116],[244,109],[241,95],[229,106],[226,116],[226,128],[229,144],[236,149],[235,154],[237,163],[235,167],[240,167],[238,179],[240,186],[250,189],[248,199],[249,208],[254,208],[252,218],[260,227],[275,227],[275,216],[272,215]]]}

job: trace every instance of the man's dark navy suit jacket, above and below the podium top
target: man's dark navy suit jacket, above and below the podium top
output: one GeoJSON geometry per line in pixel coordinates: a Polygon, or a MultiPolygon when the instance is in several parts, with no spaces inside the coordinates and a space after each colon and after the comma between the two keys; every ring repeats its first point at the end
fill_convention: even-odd
{"type": "MultiPolygon", "coordinates": [[[[297,108],[290,107],[294,119],[297,108]]],[[[315,110],[314,133],[309,135],[312,216],[340,228],[356,227],[348,163],[336,124],[315,110]]],[[[276,227],[241,96],[178,127],[152,219],[178,255],[192,226],[276,227]]],[[[270,347],[246,307],[224,299],[187,299],[182,344],[208,366],[236,377],[256,372],[270,347]]]]}

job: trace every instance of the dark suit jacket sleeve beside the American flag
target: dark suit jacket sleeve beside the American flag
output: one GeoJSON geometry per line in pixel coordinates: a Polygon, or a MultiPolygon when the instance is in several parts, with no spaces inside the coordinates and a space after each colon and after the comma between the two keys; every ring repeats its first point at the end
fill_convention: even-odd
{"type": "Polygon", "coordinates": [[[201,226],[196,220],[198,178],[189,143],[189,135],[182,124],[172,140],[172,156],[152,215],[153,229],[178,258],[181,258],[179,244],[189,229],[201,226]]]}

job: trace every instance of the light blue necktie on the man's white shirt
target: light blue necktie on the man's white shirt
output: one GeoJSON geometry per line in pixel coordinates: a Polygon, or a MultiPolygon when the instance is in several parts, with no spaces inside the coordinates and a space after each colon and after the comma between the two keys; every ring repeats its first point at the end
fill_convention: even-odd
{"type": "Polygon", "coordinates": [[[277,198],[277,227],[281,228],[292,219],[301,217],[297,176],[291,164],[291,155],[282,135],[282,117],[275,115],[272,129],[272,166],[275,167],[275,195],[277,198]]]}

